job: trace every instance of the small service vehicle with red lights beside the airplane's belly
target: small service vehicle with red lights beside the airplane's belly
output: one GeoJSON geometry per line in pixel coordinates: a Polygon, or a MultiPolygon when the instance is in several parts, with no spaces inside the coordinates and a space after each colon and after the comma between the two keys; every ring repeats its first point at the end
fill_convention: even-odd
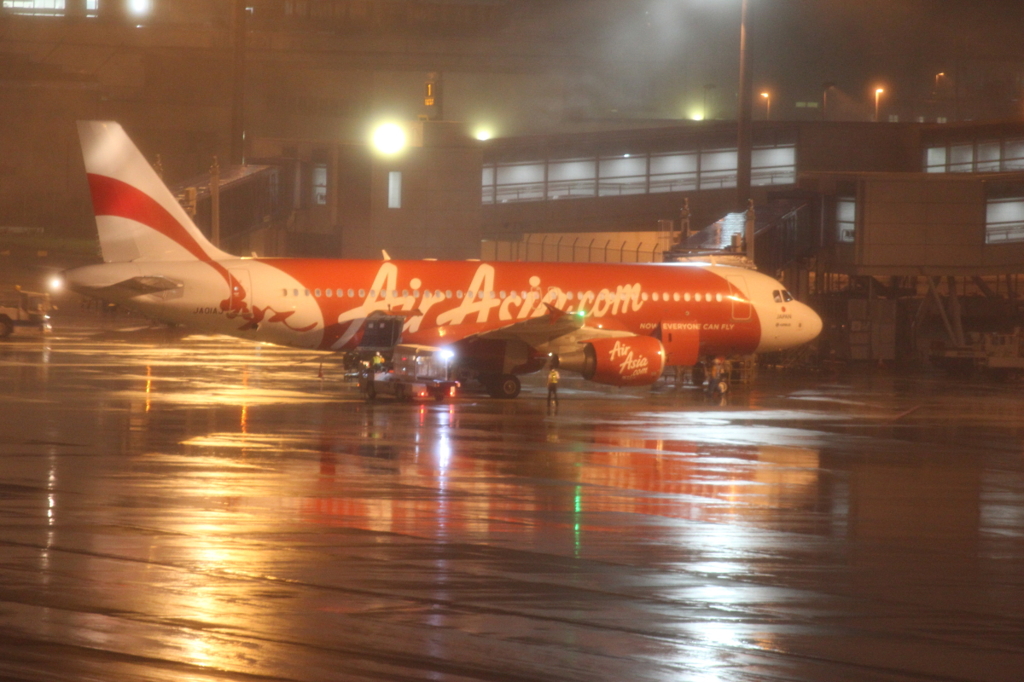
{"type": "Polygon", "coordinates": [[[373,400],[390,395],[399,400],[438,402],[455,397],[459,382],[450,379],[453,353],[444,348],[399,344],[390,365],[367,368],[359,377],[359,390],[373,400]]]}

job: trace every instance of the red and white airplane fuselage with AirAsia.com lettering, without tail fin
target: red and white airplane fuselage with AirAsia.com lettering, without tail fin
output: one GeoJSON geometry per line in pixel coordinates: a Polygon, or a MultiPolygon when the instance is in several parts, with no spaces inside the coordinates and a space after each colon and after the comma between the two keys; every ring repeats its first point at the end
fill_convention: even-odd
{"type": "Polygon", "coordinates": [[[820,321],[779,299],[774,280],[720,265],[369,261],[241,258],[87,266],[69,284],[152,317],[211,333],[348,350],[376,311],[407,315],[407,343],[447,345],[549,313],[649,336],[666,323],[699,333],[707,354],[778,350],[813,339],[820,321]],[[112,287],[162,278],[161,291],[112,287]],[[548,305],[545,305],[548,304],[548,305]]]}

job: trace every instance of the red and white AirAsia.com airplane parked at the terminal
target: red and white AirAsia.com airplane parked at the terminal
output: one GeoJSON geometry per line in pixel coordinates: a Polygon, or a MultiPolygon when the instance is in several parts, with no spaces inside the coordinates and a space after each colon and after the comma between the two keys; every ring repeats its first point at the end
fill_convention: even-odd
{"type": "Polygon", "coordinates": [[[68,270],[68,286],[190,330],[348,352],[386,315],[399,319],[401,343],[453,351],[460,377],[504,398],[549,363],[644,386],[666,367],[793,348],[821,331],[777,281],[715,263],[232,256],[120,124],[79,122],[79,136],[103,263],[68,270]]]}

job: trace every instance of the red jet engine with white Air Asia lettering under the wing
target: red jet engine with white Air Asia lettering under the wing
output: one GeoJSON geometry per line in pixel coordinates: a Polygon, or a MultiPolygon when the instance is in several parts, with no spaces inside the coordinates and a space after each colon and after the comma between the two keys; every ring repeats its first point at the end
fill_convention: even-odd
{"type": "Polygon", "coordinates": [[[648,386],[662,376],[665,348],[650,336],[594,339],[558,355],[558,367],[611,386],[648,386]]]}

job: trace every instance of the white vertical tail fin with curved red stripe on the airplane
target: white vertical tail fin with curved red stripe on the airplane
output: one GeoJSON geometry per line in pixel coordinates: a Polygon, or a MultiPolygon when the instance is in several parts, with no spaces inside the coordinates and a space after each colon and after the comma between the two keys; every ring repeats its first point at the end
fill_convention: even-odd
{"type": "Polygon", "coordinates": [[[119,123],[79,121],[99,248],[108,263],[224,260],[119,123]]]}

